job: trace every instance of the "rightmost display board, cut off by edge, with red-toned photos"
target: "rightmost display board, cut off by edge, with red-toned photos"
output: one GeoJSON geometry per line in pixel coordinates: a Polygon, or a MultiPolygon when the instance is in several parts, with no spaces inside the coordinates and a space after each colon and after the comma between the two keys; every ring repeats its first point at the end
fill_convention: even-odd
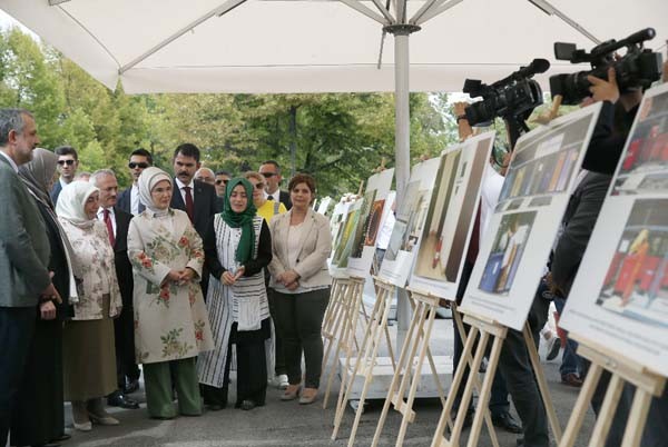
{"type": "Polygon", "coordinates": [[[668,85],[645,93],[560,326],[668,376],[668,85]]]}

